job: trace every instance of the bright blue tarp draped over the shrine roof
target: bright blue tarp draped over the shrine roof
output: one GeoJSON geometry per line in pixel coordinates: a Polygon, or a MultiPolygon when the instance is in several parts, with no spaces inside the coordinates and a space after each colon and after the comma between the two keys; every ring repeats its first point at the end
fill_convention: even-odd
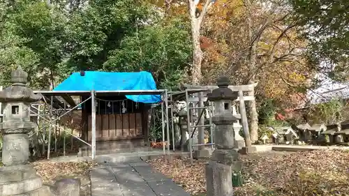
{"type": "MultiPolygon", "coordinates": [[[[156,90],[151,73],[147,71],[135,73],[117,73],[85,71],[85,75],[73,73],[53,91],[117,91],[117,90],[156,90]]],[[[134,95],[126,98],[141,103],[158,103],[159,95],[134,95]]]]}

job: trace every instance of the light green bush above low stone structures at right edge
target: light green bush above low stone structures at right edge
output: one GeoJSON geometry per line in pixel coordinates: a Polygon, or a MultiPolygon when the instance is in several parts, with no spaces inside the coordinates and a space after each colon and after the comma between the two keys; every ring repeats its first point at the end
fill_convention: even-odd
{"type": "Polygon", "coordinates": [[[333,98],[327,103],[312,105],[308,116],[313,123],[338,123],[347,116],[346,108],[344,100],[333,98]]]}

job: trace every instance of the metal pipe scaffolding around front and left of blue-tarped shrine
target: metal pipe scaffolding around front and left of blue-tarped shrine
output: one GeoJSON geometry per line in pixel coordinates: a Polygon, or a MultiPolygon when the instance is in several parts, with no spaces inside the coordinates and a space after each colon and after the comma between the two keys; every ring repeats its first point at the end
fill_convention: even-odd
{"type": "MultiPolygon", "coordinates": [[[[46,103],[46,105],[49,105],[50,102],[50,119],[45,118],[47,115],[40,114],[40,108],[35,108],[36,111],[31,110],[31,113],[33,113],[34,116],[38,116],[38,119],[42,119],[43,121],[46,121],[49,123],[48,126],[50,126],[49,129],[49,137],[48,140],[48,146],[47,146],[47,159],[50,159],[50,148],[51,148],[51,134],[52,134],[52,127],[58,128],[57,121],[61,119],[63,116],[66,116],[66,114],[70,114],[73,112],[73,110],[77,110],[83,103],[85,103],[87,100],[91,99],[91,133],[92,133],[92,141],[91,144],[88,142],[85,142],[84,140],[80,139],[80,137],[76,137],[75,135],[68,133],[66,129],[64,129],[64,134],[68,133],[68,135],[71,135],[72,137],[75,137],[77,140],[80,140],[80,142],[83,142],[84,144],[87,144],[87,146],[91,147],[91,158],[96,158],[96,96],[105,96],[105,95],[114,95],[114,96],[126,96],[126,95],[160,95],[161,96],[161,107],[162,107],[162,124],[163,124],[163,142],[165,143],[165,132],[166,135],[168,135],[168,141],[167,141],[167,153],[168,156],[170,156],[170,125],[168,120],[168,91],[167,90],[120,90],[120,91],[34,91],[34,93],[40,93],[43,96],[43,102],[46,103]],[[89,96],[86,100],[75,103],[73,98],[71,96],[89,96]],[[59,98],[61,97],[63,101],[61,101],[59,98]],[[54,110],[56,111],[54,115],[54,110]],[[58,111],[58,112],[57,112],[58,111]]],[[[1,107],[1,106],[0,106],[1,107]]],[[[37,133],[39,133],[40,130],[44,130],[47,128],[46,126],[43,126],[42,128],[38,128],[36,130],[37,133]]],[[[43,134],[45,135],[45,134],[43,134]]],[[[55,134],[57,135],[57,134],[55,134]]],[[[73,138],[72,138],[73,139],[73,138]]],[[[45,138],[43,138],[43,143],[45,141],[45,138]]],[[[57,138],[55,138],[55,142],[57,145],[57,138]]],[[[64,143],[65,143],[65,137],[64,137],[64,143]]],[[[55,150],[57,151],[57,146],[55,145],[55,150]]],[[[45,145],[43,145],[43,148],[45,145]]],[[[64,156],[66,153],[66,146],[64,144],[64,156]]],[[[163,147],[163,155],[166,154],[165,146],[163,147]]]]}

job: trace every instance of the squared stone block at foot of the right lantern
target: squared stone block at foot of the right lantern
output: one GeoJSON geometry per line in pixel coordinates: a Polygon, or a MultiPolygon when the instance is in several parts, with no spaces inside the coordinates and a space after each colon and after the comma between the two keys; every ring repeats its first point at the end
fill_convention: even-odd
{"type": "Polygon", "coordinates": [[[232,167],[209,161],[206,165],[207,196],[232,195],[232,167]]]}

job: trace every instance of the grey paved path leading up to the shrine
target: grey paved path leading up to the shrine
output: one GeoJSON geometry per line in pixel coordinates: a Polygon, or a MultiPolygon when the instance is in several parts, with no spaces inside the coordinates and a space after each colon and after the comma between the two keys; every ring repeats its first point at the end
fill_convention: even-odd
{"type": "Polygon", "coordinates": [[[91,170],[91,196],[190,196],[144,160],[103,163],[91,170]]]}

